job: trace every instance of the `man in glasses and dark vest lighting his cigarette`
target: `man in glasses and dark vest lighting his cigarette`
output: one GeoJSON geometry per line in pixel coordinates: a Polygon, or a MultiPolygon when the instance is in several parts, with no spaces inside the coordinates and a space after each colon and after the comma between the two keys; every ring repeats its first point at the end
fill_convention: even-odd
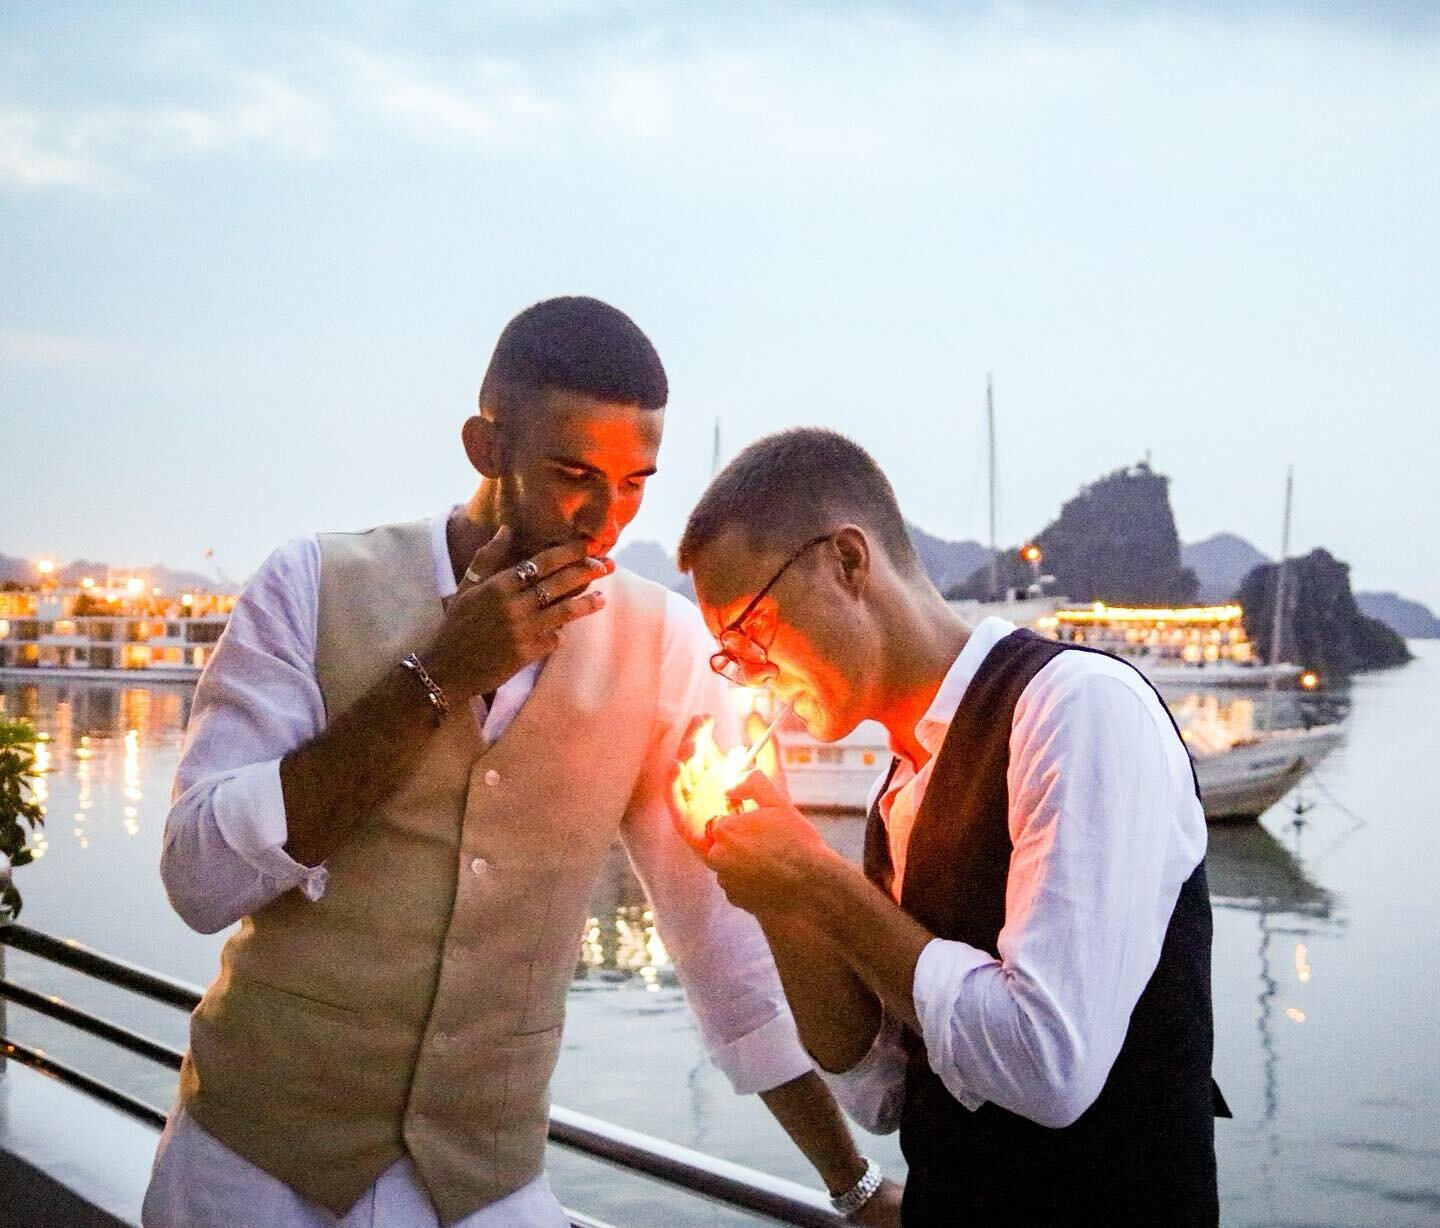
{"type": "Polygon", "coordinates": [[[900,1129],[901,1222],[1214,1224],[1205,821],[1153,688],[926,577],[874,461],[762,439],[680,548],[719,671],[822,741],[881,721],[865,870],[760,773],[691,836],[760,920],[801,1037],[900,1129]]]}

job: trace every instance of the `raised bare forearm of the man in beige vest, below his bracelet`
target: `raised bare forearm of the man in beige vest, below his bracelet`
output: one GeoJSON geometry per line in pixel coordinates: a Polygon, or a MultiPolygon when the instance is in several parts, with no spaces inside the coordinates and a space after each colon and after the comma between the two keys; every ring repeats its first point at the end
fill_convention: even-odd
{"type": "Polygon", "coordinates": [[[360,816],[395,792],[433,731],[425,691],[395,665],[324,733],[281,760],[285,851],[302,865],[330,857],[360,816]]]}

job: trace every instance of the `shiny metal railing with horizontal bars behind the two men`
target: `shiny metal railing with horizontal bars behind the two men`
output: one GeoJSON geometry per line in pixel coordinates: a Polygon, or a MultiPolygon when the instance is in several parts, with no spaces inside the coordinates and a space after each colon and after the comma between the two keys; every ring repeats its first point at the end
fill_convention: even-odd
{"type": "MultiPolygon", "coordinates": [[[[0,926],[0,946],[13,947],[180,1011],[193,1011],[200,1002],[200,990],[193,985],[101,954],[71,939],[50,937],[27,926],[0,926]]],[[[160,1041],[81,1011],[58,996],[37,993],[4,976],[0,976],[0,998],[170,1070],[179,1071],[184,1058],[179,1049],[160,1041]]],[[[0,1037],[0,1054],[102,1100],[157,1130],[166,1123],[166,1114],[153,1104],[137,1100],[127,1091],[45,1052],[22,1045],[7,1035],[0,1037]]],[[[831,1211],[818,1191],[572,1109],[560,1106],[550,1109],[550,1142],[688,1193],[765,1215],[779,1224],[835,1228],[845,1222],[831,1211]]],[[[567,1214],[573,1228],[606,1228],[599,1221],[577,1212],[567,1214]]]]}

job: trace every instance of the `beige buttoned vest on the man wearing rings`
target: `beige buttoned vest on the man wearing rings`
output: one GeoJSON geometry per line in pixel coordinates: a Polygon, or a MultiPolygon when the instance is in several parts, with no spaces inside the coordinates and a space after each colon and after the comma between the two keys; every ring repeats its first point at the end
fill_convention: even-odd
{"type": "MultiPolygon", "coordinates": [[[[425,523],[320,538],[333,720],[441,625],[425,523]]],[[[505,734],[459,705],[327,862],[248,917],[190,1022],[181,1103],[343,1214],[409,1152],[444,1224],[541,1172],[589,891],[654,733],[664,590],[618,572],[505,734]]]]}

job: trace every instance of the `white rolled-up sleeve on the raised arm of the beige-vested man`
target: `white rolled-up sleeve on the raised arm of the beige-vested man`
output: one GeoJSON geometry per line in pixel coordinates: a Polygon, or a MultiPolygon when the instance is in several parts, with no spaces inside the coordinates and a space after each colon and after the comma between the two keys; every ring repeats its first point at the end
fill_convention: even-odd
{"type": "Polygon", "coordinates": [[[194,692],[166,818],[160,875],[192,929],[216,933],[300,888],[318,898],[324,867],[285,852],[281,759],[324,728],[315,681],[320,547],[271,554],[230,613],[194,692]]]}

